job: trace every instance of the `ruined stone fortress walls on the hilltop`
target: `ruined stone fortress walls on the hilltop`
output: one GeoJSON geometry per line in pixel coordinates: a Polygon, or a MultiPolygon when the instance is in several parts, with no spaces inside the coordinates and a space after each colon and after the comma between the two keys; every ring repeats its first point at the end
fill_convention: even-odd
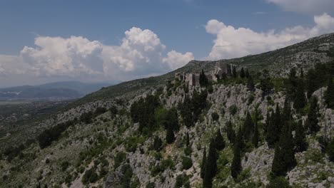
{"type": "MultiPolygon", "coordinates": [[[[214,71],[210,71],[206,74],[206,78],[209,81],[217,82],[218,78],[222,78],[224,76],[231,76],[232,75],[232,66],[228,63],[216,63],[216,68],[214,71]]],[[[178,80],[184,80],[188,83],[189,86],[196,86],[200,85],[200,73],[185,73],[185,72],[178,72],[175,73],[175,78],[178,80]]]]}

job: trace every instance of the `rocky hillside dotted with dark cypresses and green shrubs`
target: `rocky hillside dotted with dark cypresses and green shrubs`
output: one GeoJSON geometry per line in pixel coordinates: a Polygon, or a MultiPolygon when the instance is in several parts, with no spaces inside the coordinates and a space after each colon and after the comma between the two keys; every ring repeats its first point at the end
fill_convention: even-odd
{"type": "Polygon", "coordinates": [[[0,187],[334,187],[333,88],[322,81],[333,46],[328,34],[222,60],[238,75],[218,83],[174,80],[216,63],[191,61],[103,88],[1,138],[0,187]]]}

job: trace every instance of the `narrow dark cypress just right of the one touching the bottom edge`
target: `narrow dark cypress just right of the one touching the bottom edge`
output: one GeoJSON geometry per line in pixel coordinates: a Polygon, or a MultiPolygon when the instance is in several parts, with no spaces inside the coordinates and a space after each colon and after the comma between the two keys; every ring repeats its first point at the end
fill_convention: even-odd
{"type": "Polygon", "coordinates": [[[231,176],[236,179],[241,173],[241,147],[242,147],[242,132],[239,128],[238,135],[234,141],[233,147],[233,161],[231,164],[231,176]]]}

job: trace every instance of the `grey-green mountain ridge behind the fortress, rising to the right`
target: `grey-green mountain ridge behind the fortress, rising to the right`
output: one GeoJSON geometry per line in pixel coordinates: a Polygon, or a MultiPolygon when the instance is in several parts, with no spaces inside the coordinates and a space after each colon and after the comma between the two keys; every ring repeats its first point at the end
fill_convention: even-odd
{"type": "Polygon", "coordinates": [[[94,100],[114,98],[119,95],[128,95],[131,91],[140,92],[141,87],[151,87],[166,84],[174,78],[177,72],[199,72],[213,71],[217,62],[230,63],[235,66],[243,66],[250,71],[261,71],[268,69],[271,75],[286,76],[288,70],[293,67],[308,70],[315,63],[327,63],[334,59],[334,33],[327,33],[321,36],[308,38],[305,41],[295,43],[284,48],[268,51],[265,53],[248,55],[241,58],[221,59],[218,61],[190,61],[185,66],[169,73],[156,77],[129,80],[123,83],[112,85],[102,90],[86,95],[84,98],[75,101],[70,107],[80,105],[94,100]],[[308,61],[308,63],[306,62],[308,61]],[[124,92],[124,93],[123,93],[124,92]]]}

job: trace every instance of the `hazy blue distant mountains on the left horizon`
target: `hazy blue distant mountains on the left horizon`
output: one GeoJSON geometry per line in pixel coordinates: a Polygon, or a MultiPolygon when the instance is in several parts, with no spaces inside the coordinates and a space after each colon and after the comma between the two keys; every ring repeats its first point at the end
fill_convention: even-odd
{"type": "Polygon", "coordinates": [[[42,85],[22,85],[0,88],[0,100],[18,99],[72,99],[100,90],[111,83],[81,83],[79,81],[55,82],[42,85]]]}

